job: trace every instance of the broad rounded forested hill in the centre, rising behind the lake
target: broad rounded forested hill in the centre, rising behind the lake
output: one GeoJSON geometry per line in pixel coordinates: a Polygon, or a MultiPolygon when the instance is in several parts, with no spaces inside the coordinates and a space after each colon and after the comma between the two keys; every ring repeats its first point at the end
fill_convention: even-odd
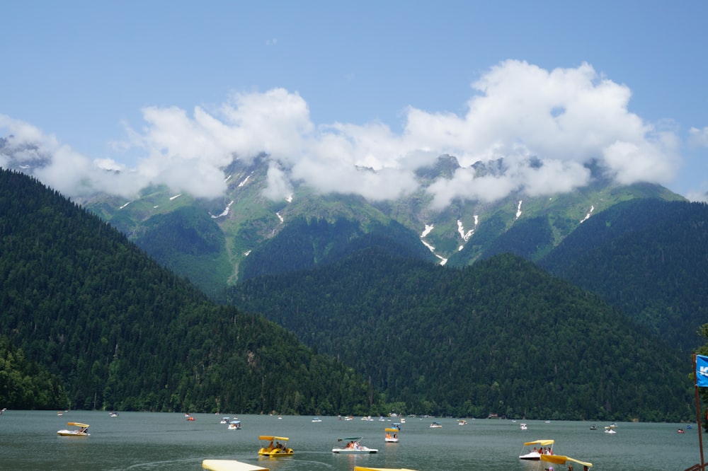
{"type": "Polygon", "coordinates": [[[456,269],[364,250],[231,296],[371,376],[397,412],[690,417],[688,356],[512,255],[456,269]]]}

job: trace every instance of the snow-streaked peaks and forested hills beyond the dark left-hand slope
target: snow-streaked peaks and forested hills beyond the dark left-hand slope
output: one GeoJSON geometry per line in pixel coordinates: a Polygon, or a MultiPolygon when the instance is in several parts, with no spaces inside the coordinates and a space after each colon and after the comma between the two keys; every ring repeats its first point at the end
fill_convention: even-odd
{"type": "MultiPolygon", "coordinates": [[[[424,187],[456,165],[441,156],[417,176],[424,187]]],[[[475,169],[503,172],[503,161],[475,169]]],[[[219,200],[152,187],[77,201],[212,300],[263,314],[369,378],[369,407],[690,417],[703,204],[599,174],[566,194],[439,211],[424,191],[370,202],[296,187],[273,202],[258,158],[224,175],[219,200]]]]}

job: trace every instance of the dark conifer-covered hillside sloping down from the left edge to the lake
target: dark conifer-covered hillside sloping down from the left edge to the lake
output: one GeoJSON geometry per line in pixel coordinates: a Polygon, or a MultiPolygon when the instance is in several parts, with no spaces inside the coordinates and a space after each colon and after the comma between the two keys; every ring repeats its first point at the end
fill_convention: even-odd
{"type": "MultiPolygon", "coordinates": [[[[352,368],[261,315],[215,306],[98,217],[8,170],[0,321],[13,358],[21,349],[62,381],[63,407],[362,414],[375,400],[352,368]]],[[[11,362],[1,366],[0,376],[13,373],[11,362]]]]}

